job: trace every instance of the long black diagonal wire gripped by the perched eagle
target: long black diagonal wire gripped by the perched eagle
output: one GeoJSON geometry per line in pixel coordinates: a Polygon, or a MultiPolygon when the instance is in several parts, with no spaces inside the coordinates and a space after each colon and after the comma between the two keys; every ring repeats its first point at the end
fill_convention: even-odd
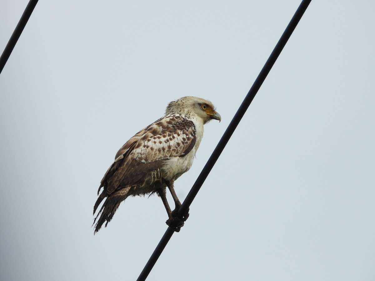
{"type": "MultiPolygon", "coordinates": [[[[250,103],[254,99],[255,95],[257,94],[259,88],[263,84],[264,80],[266,79],[268,73],[270,72],[273,64],[275,63],[276,59],[279,57],[282,49],[284,48],[285,44],[288,42],[289,37],[293,33],[294,29],[296,28],[297,24],[299,23],[300,19],[305,13],[307,7],[309,6],[311,0],[303,0],[298,7],[296,13],[294,13],[293,18],[289,22],[287,28],[285,29],[284,33],[280,37],[279,42],[276,44],[275,49],[273,49],[270,57],[264,64],[263,69],[259,73],[257,79],[255,80],[254,84],[252,85],[249,93],[246,95],[245,99],[243,100],[242,104],[240,105],[238,111],[233,117],[233,120],[229,124],[228,128],[226,129],[225,133],[223,134],[222,138],[220,139],[219,143],[217,144],[215,150],[212,152],[211,157],[208,159],[207,163],[205,164],[202,172],[196,179],[193,187],[191,188],[189,194],[187,194],[186,199],[184,200],[181,208],[178,210],[179,217],[187,211],[190,204],[193,202],[196,194],[198,193],[199,189],[201,188],[203,182],[207,178],[208,174],[210,173],[212,167],[216,163],[217,159],[219,158],[221,152],[225,148],[226,143],[228,143],[230,137],[232,136],[234,130],[236,130],[237,125],[240,123],[243,115],[245,114],[246,110],[248,109],[250,103]]],[[[156,246],[154,252],[152,253],[150,259],[146,263],[144,269],[142,270],[141,274],[139,275],[137,281],[144,281],[146,280],[148,274],[150,273],[151,269],[155,265],[157,259],[159,258],[160,254],[164,250],[166,244],[168,243],[169,239],[171,239],[174,230],[171,227],[168,227],[166,232],[164,233],[162,239],[160,240],[159,244],[156,246]]]]}

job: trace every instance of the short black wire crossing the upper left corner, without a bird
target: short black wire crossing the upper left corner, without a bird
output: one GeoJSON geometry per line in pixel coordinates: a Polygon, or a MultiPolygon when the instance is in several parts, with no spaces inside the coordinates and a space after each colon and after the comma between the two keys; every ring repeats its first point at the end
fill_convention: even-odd
{"type": "Polygon", "coordinates": [[[8,43],[6,44],[6,47],[3,51],[3,54],[1,54],[0,57],[0,73],[3,71],[3,68],[8,61],[8,58],[10,54],[12,53],[14,46],[16,45],[18,38],[20,38],[21,33],[23,29],[25,28],[25,25],[27,24],[28,19],[31,16],[31,13],[33,12],[36,3],[38,3],[38,0],[30,0],[26,6],[26,9],[24,13],[21,16],[20,21],[18,22],[15,30],[13,31],[12,36],[10,36],[10,39],[8,43]]]}

